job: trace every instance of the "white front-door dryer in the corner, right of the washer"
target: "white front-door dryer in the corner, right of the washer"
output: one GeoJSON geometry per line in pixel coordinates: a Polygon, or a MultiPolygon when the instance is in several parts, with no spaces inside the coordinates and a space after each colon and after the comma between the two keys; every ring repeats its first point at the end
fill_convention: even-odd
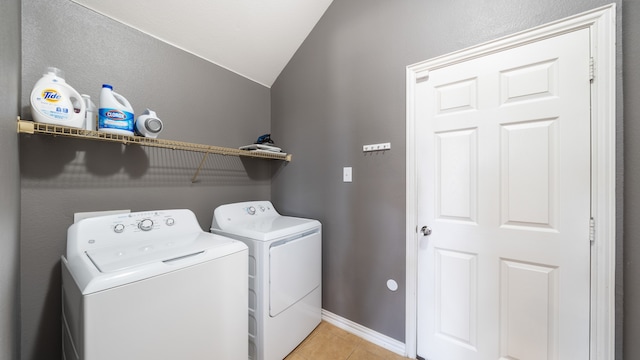
{"type": "Polygon", "coordinates": [[[211,231],[249,246],[249,358],[282,360],[321,320],[320,222],[253,201],[216,208],[211,231]]]}

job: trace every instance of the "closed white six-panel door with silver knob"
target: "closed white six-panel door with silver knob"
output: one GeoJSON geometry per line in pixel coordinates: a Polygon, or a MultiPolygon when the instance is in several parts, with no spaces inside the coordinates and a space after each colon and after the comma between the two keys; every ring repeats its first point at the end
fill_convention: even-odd
{"type": "Polygon", "coordinates": [[[418,355],[589,358],[589,30],[416,85],[418,355]]]}

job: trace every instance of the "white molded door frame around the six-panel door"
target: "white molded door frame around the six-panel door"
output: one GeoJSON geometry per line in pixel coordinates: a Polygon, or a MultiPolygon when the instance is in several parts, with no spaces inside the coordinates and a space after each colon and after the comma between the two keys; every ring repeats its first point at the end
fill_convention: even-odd
{"type": "Polygon", "coordinates": [[[405,351],[417,353],[418,207],[415,85],[429,71],[589,28],[591,32],[591,330],[590,359],[615,358],[616,267],[616,4],[407,66],[405,351]]]}

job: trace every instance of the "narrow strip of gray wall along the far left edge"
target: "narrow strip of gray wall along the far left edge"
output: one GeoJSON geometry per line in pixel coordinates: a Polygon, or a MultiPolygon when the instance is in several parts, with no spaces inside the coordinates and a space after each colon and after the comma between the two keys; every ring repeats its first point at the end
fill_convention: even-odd
{"type": "Polygon", "coordinates": [[[0,2],[0,360],[19,354],[20,0],[0,2]]]}

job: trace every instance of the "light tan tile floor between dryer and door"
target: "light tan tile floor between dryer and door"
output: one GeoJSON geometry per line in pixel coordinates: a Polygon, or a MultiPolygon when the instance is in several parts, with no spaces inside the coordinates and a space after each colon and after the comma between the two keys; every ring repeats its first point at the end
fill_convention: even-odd
{"type": "Polygon", "coordinates": [[[404,360],[394,352],[322,321],[285,360],[404,360]]]}

